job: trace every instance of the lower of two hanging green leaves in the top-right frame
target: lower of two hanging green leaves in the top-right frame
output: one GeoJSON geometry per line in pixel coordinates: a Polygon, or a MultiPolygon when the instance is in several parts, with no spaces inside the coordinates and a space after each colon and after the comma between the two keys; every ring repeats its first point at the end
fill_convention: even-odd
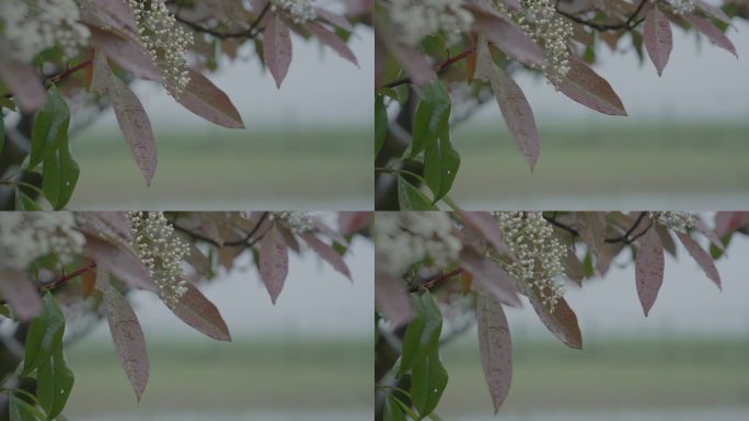
{"type": "Polygon", "coordinates": [[[427,146],[424,152],[424,179],[435,195],[435,203],[450,192],[459,168],[460,155],[452,147],[449,133],[427,146]]]}

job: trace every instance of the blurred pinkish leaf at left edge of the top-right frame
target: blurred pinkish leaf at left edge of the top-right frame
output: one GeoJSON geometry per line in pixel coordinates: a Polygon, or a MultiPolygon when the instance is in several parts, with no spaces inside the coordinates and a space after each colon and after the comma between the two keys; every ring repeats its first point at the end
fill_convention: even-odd
{"type": "MultiPolygon", "coordinates": [[[[397,31],[384,19],[374,15],[374,35],[401,67],[408,73],[411,80],[419,87],[424,87],[437,79],[437,73],[429,66],[424,54],[418,48],[403,45],[397,39],[397,31]]],[[[384,60],[381,60],[384,64],[384,60]]]]}

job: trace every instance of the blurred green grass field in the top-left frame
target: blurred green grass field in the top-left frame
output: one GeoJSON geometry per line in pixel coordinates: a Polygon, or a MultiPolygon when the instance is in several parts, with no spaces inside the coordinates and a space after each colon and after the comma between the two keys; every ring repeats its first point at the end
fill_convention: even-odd
{"type": "Polygon", "coordinates": [[[151,187],[112,129],[72,140],[81,178],[71,209],[371,207],[371,129],[254,127],[243,132],[172,127],[154,133],[151,187]]]}

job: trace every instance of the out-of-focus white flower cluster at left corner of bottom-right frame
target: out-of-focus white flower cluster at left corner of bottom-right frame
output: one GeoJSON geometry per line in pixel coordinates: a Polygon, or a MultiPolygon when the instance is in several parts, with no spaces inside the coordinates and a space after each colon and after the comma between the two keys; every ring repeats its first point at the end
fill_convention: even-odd
{"type": "Polygon", "coordinates": [[[450,217],[440,212],[378,213],[378,271],[401,275],[418,262],[436,268],[448,265],[463,248],[452,229],[450,217]]]}

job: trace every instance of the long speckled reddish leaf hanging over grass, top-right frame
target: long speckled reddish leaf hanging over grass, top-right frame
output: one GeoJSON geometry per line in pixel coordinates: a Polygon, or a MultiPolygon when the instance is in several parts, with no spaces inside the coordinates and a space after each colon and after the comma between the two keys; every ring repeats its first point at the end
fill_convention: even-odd
{"type": "Polygon", "coordinates": [[[476,71],[479,77],[489,80],[505,123],[512,134],[515,144],[528,161],[531,171],[539,160],[539,132],[526,95],[520,87],[504,70],[492,61],[486,43],[479,44],[476,71]]]}

